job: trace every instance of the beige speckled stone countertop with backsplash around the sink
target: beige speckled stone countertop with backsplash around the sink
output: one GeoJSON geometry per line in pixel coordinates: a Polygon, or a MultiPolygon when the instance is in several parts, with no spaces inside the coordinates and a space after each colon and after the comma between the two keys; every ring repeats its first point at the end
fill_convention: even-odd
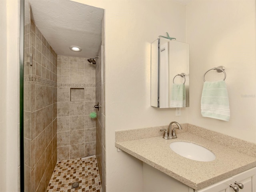
{"type": "Polygon", "coordinates": [[[256,166],[256,144],[190,124],[182,124],[182,127],[182,131],[176,132],[178,138],[172,140],[163,139],[163,133],[158,131],[160,128],[166,128],[165,126],[117,131],[115,146],[195,190],[256,166]],[[145,137],[143,132],[147,130],[151,132],[148,136],[153,137],[143,138],[145,137]],[[203,138],[201,134],[200,136],[192,134],[192,131],[206,132],[208,136],[203,138]],[[132,133],[134,137],[131,136],[132,133]],[[221,141],[218,141],[218,138],[221,141]],[[225,142],[223,139],[229,140],[225,142]],[[233,141],[230,142],[230,140],[233,141]],[[200,162],[184,158],[169,147],[171,142],[176,141],[192,142],[204,146],[216,155],[216,159],[211,162],[200,162]],[[240,151],[234,149],[237,147],[240,151]]]}

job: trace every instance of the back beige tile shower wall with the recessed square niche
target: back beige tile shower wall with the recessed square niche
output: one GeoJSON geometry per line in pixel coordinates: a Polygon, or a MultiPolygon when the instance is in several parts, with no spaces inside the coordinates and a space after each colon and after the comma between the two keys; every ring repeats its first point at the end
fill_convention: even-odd
{"type": "Polygon", "coordinates": [[[87,58],[57,57],[57,160],[95,155],[95,65],[87,58]],[[88,153],[89,148],[89,153],[88,153]]]}

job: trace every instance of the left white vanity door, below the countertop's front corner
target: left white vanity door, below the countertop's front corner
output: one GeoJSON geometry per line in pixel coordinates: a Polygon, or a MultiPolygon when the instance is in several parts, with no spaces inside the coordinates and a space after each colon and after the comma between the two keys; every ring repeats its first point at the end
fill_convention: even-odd
{"type": "Polygon", "coordinates": [[[232,178],[228,178],[198,191],[195,190],[195,192],[232,192],[229,187],[231,183],[232,178]]]}

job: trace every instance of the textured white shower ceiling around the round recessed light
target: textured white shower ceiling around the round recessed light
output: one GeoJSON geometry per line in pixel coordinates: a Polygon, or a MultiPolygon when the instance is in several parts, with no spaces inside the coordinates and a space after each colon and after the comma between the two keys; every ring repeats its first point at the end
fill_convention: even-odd
{"type": "Polygon", "coordinates": [[[104,10],[70,0],[30,0],[38,29],[58,55],[93,58],[101,43],[104,10]],[[79,46],[81,52],[70,50],[79,46]]]}

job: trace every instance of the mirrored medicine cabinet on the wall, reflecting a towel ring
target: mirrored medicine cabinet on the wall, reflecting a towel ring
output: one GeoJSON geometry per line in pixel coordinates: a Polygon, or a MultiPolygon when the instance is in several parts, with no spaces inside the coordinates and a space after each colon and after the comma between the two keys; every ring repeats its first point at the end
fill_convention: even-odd
{"type": "Polygon", "coordinates": [[[151,43],[151,106],[189,106],[189,44],[162,37],[151,43]]]}

